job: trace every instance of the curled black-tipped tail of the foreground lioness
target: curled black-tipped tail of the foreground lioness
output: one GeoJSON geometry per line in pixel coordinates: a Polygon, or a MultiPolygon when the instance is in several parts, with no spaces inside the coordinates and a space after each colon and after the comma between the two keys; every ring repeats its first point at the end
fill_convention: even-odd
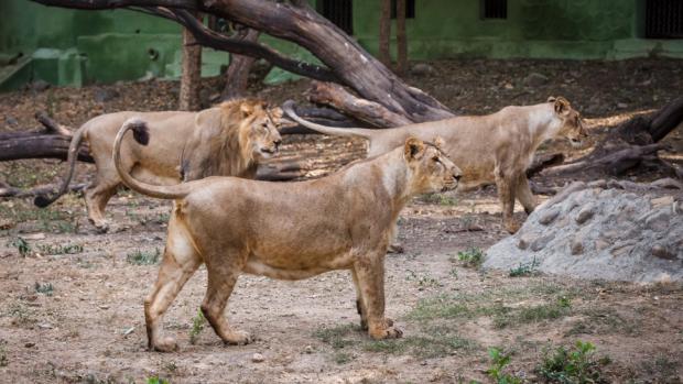
{"type": "Polygon", "coordinates": [[[123,125],[121,125],[121,129],[119,130],[119,133],[113,142],[113,164],[119,173],[119,176],[121,176],[123,184],[143,195],[161,199],[180,199],[187,196],[187,194],[189,194],[192,183],[171,186],[147,184],[134,179],[128,171],[121,166],[121,141],[123,140],[126,132],[130,130],[133,131],[133,139],[141,145],[147,145],[150,141],[149,128],[140,118],[128,119],[123,125]]]}

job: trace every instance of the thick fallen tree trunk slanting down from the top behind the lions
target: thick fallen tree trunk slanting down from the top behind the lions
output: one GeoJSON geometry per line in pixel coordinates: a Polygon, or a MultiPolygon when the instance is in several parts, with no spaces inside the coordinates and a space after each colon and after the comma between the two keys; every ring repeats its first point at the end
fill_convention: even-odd
{"type": "MultiPolygon", "coordinates": [[[[332,22],[317,14],[306,1],[278,2],[270,0],[32,0],[43,4],[79,9],[112,9],[142,7],[155,14],[175,20],[189,28],[187,10],[199,10],[232,22],[291,41],[313,53],[327,68],[297,65],[272,48],[260,44],[238,44],[224,35],[207,32],[198,23],[191,30],[202,44],[224,46],[239,54],[279,61],[313,76],[334,77],[360,98],[376,102],[411,122],[441,120],[453,117],[446,107],[420,89],[410,87],[378,59],[332,22]],[[159,8],[159,7],[164,7],[159,8]],[[333,76],[329,76],[333,75],[333,76]]],[[[279,63],[271,62],[275,65],[279,63]]],[[[301,64],[301,63],[300,63],[301,64]]],[[[285,68],[288,69],[288,68],[285,68]]],[[[288,69],[289,70],[289,69],[288,69]]],[[[358,117],[360,120],[362,117],[358,117]]]]}

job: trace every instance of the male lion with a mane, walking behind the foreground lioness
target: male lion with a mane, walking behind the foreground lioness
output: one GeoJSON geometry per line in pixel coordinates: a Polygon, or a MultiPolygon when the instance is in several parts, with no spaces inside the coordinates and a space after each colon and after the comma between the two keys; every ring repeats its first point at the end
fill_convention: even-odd
{"type": "Polygon", "coordinates": [[[121,124],[132,117],[147,121],[155,140],[144,151],[134,140],[126,140],[121,164],[149,183],[170,185],[213,175],[254,178],[259,162],[275,155],[282,143],[278,131],[282,110],[271,109],[261,100],[231,100],[199,112],[102,114],[74,133],[68,150],[68,174],[61,189],[52,196],[37,196],[35,205],[46,207],[66,193],[78,146],[85,140],[97,168],[95,180],[85,191],[88,219],[99,231],[107,231],[104,210],[121,184],[111,160],[113,139],[121,124]]]}

